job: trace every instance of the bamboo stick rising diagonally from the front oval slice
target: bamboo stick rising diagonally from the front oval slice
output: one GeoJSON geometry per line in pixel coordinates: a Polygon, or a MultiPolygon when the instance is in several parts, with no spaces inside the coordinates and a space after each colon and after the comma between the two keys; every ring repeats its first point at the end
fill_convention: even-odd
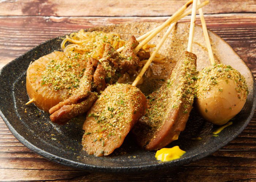
{"type": "Polygon", "coordinates": [[[143,74],[145,73],[145,71],[147,70],[147,68],[149,67],[150,63],[153,61],[153,59],[155,58],[155,55],[157,54],[157,52],[159,51],[159,49],[162,47],[163,43],[165,42],[166,38],[168,37],[168,35],[170,34],[170,32],[172,31],[172,29],[174,28],[174,26],[176,25],[175,23],[172,23],[170,25],[170,27],[167,29],[167,31],[165,32],[165,34],[163,35],[162,39],[160,40],[160,42],[157,44],[157,47],[155,48],[155,50],[153,51],[153,53],[151,54],[150,58],[148,59],[147,63],[143,66],[142,70],[140,71],[139,75],[136,77],[136,79],[133,81],[132,86],[136,86],[138,84],[138,82],[140,81],[140,79],[142,78],[143,74]]]}

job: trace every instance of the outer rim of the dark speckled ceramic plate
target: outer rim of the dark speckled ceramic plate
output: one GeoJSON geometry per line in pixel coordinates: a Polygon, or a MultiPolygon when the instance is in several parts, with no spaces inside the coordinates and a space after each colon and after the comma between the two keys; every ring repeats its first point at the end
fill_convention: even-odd
{"type": "MultiPolygon", "coordinates": [[[[86,30],[90,31],[90,29],[93,29],[93,28],[89,28],[89,29],[86,29],[86,30]]],[[[212,33],[214,33],[214,32],[212,32],[212,33]]],[[[217,34],[215,34],[215,35],[217,35],[217,34]]],[[[63,36],[55,37],[53,39],[57,39],[57,38],[60,38],[60,37],[63,37],[63,36]]],[[[221,37],[219,37],[219,38],[221,38],[221,37]]],[[[39,44],[38,46],[36,46],[36,47],[32,48],[31,50],[27,51],[25,54],[20,55],[18,58],[14,59],[10,63],[6,64],[0,70],[0,78],[1,78],[2,70],[4,70],[5,68],[9,67],[13,62],[15,62],[15,61],[19,60],[20,58],[22,58],[22,56],[24,56],[24,55],[26,55],[26,54],[28,54],[30,52],[33,52],[35,49],[40,47],[42,44],[45,44],[48,41],[51,41],[53,39],[49,39],[49,40],[39,44]]],[[[230,48],[231,48],[231,46],[230,46],[230,48]]],[[[231,48],[231,49],[233,50],[233,48],[231,48]]],[[[237,54],[235,51],[234,51],[234,53],[237,54]]],[[[248,68],[248,70],[249,70],[249,68],[248,68]]],[[[251,70],[249,70],[249,71],[251,72],[251,70]]],[[[252,72],[251,72],[251,74],[252,74],[252,72]]],[[[152,164],[152,165],[141,165],[141,166],[132,166],[132,167],[107,167],[107,166],[89,165],[89,164],[86,164],[86,163],[80,163],[80,162],[71,161],[69,159],[65,159],[65,158],[59,157],[57,155],[53,155],[51,153],[48,153],[48,152],[46,152],[46,151],[44,151],[44,150],[34,146],[29,141],[27,141],[24,137],[22,137],[22,135],[20,135],[14,129],[14,127],[12,127],[10,122],[7,120],[7,118],[4,116],[3,112],[1,111],[1,108],[0,108],[0,116],[3,118],[5,124],[7,125],[7,127],[11,131],[11,133],[23,145],[25,145],[27,148],[32,150],[34,153],[36,153],[38,155],[41,155],[42,157],[48,159],[49,161],[56,162],[56,163],[59,163],[61,165],[65,165],[65,166],[69,166],[69,167],[74,167],[76,169],[80,169],[80,170],[87,171],[87,172],[92,172],[93,171],[93,172],[107,172],[107,173],[141,173],[141,172],[149,172],[149,171],[153,171],[153,170],[157,171],[157,170],[162,170],[162,169],[168,169],[169,167],[176,167],[176,166],[186,165],[186,164],[189,164],[189,163],[191,163],[193,161],[196,161],[198,159],[202,159],[202,158],[206,157],[207,155],[210,155],[210,154],[214,153],[215,151],[221,149],[223,146],[227,145],[227,143],[229,143],[230,141],[235,139],[244,130],[244,128],[248,125],[248,123],[251,121],[251,119],[253,117],[253,114],[255,112],[255,108],[256,108],[256,92],[255,92],[255,90],[256,90],[256,83],[255,83],[255,80],[253,79],[253,105],[252,105],[251,113],[249,114],[248,118],[246,119],[246,121],[244,122],[242,127],[240,127],[239,130],[234,132],[233,135],[230,135],[230,137],[227,138],[226,141],[224,141],[222,143],[219,143],[217,146],[212,147],[210,150],[203,151],[200,154],[190,155],[189,157],[184,157],[184,158],[177,159],[177,160],[170,161],[170,162],[159,162],[158,164],[152,164]]]]}

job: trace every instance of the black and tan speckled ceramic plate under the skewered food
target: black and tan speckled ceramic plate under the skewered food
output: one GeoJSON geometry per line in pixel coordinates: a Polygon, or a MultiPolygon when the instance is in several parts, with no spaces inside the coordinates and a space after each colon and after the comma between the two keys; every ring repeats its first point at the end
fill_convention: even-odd
{"type": "MultiPolygon", "coordinates": [[[[92,30],[120,33],[123,39],[129,35],[142,35],[156,27],[158,23],[118,24],[96,27],[92,30]]],[[[204,121],[196,111],[192,111],[184,132],[179,139],[168,147],[175,145],[187,151],[180,159],[159,162],[154,151],[144,151],[134,143],[131,136],[123,145],[107,157],[94,157],[82,151],[83,131],[81,122],[69,122],[59,126],[49,120],[49,114],[39,111],[33,104],[25,106],[28,101],[26,92],[26,70],[31,61],[60,49],[59,37],[48,40],[24,55],[8,63],[0,72],[0,115],[14,136],[29,149],[50,161],[79,168],[86,171],[103,172],[142,172],[168,169],[203,158],[225,146],[237,137],[252,118],[255,110],[255,88],[251,72],[241,58],[220,37],[210,32],[215,58],[224,64],[230,64],[245,76],[249,95],[242,111],[233,119],[233,124],[223,130],[218,137],[212,136],[217,126],[204,121]],[[202,140],[191,140],[194,137],[202,140]]],[[[162,34],[160,34],[161,37],[162,34]]],[[[161,54],[169,59],[177,59],[186,48],[188,24],[178,24],[172,32],[172,38],[166,40],[161,54]],[[179,41],[179,43],[177,43],[179,41]]],[[[155,37],[152,42],[159,39],[155,37]]],[[[200,70],[208,64],[208,56],[200,26],[195,28],[193,51],[197,55],[197,68],[200,70]]]]}

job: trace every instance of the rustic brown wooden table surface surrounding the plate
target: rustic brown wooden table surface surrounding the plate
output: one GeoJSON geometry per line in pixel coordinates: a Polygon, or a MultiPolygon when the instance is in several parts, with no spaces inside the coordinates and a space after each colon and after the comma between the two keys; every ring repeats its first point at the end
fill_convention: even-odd
{"type": "MultiPolygon", "coordinates": [[[[81,28],[164,21],[184,0],[0,0],[0,68],[39,43],[81,28]]],[[[246,62],[256,77],[256,1],[211,0],[207,26],[246,62]]],[[[182,21],[189,22],[185,17],[182,21]]],[[[200,24],[197,18],[197,23],[200,24]]],[[[186,166],[146,174],[86,173],[50,162],[22,145],[0,118],[0,180],[256,181],[256,115],[232,142],[186,166]]]]}

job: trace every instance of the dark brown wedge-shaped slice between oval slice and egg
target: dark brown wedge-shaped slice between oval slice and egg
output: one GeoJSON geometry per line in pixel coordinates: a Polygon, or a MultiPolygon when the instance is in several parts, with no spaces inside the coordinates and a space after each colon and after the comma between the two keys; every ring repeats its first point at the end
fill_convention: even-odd
{"type": "Polygon", "coordinates": [[[149,108],[133,127],[141,147],[158,150],[178,139],[192,109],[196,76],[196,55],[186,51],[166,83],[149,95],[149,108]]]}

